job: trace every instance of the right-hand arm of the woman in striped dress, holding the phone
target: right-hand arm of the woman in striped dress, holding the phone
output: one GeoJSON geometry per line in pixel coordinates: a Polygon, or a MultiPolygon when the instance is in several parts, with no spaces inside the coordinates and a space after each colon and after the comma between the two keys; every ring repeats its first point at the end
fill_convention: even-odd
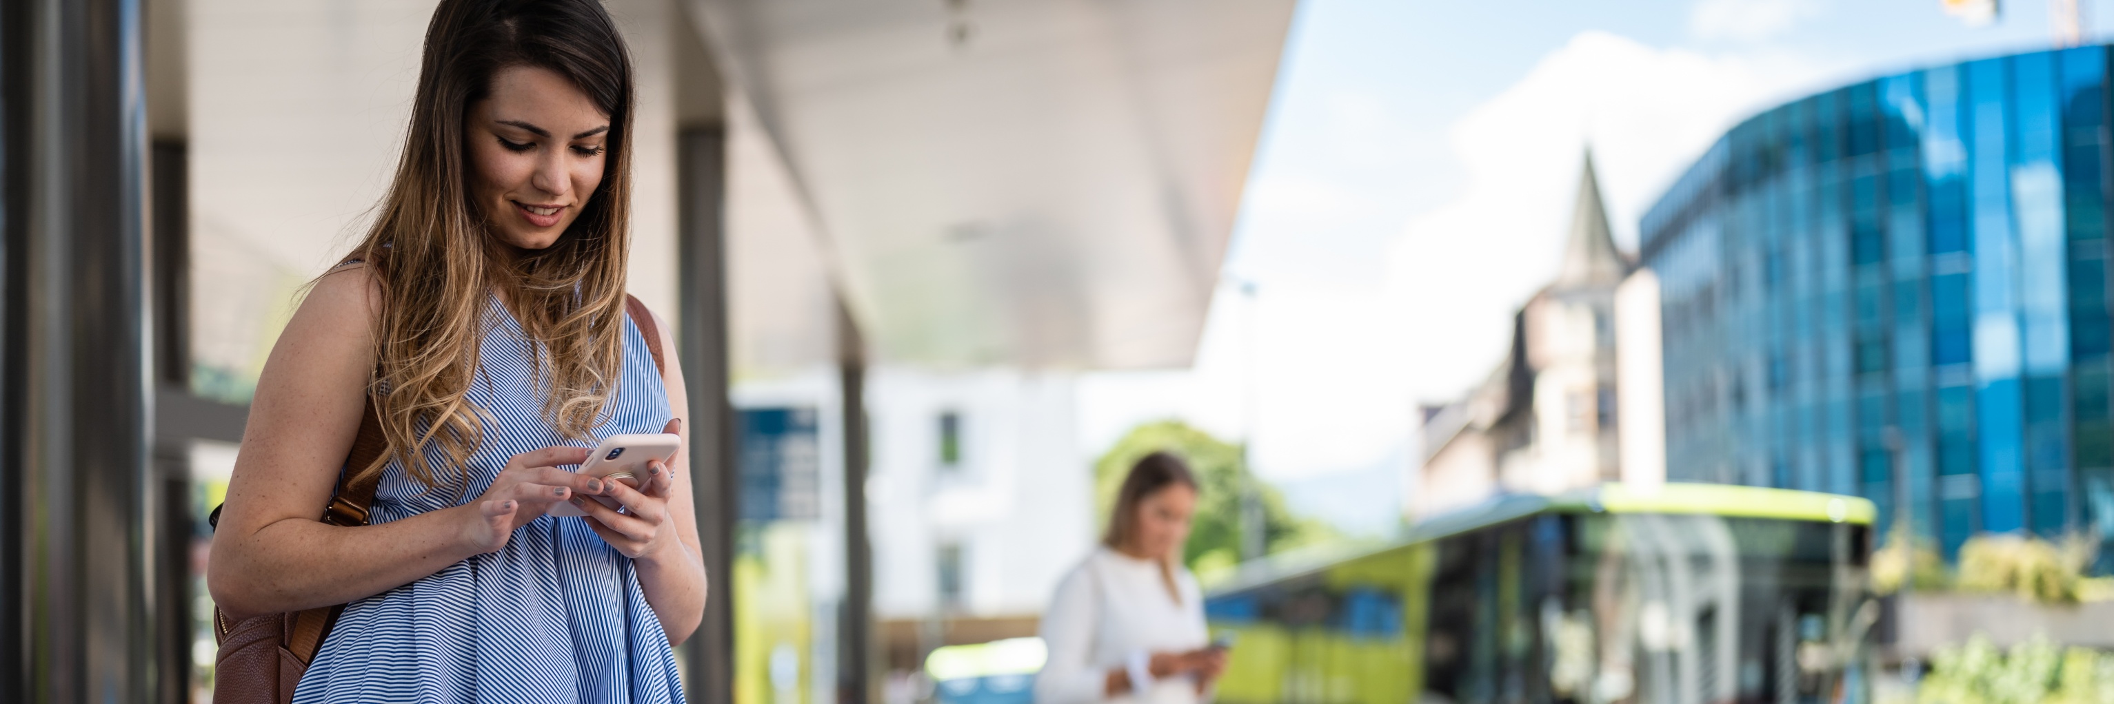
{"type": "Polygon", "coordinates": [[[698,503],[689,484],[689,393],[683,385],[683,364],[674,355],[674,338],[668,321],[653,317],[662,347],[662,389],[668,391],[668,421],[672,433],[683,436],[683,448],[668,463],[647,463],[647,480],[638,490],[624,484],[609,484],[626,514],[617,514],[598,501],[573,499],[588,514],[588,526],[609,545],[632,558],[638,571],[638,590],[647,594],[647,605],[660,617],[670,645],[681,645],[698,632],[704,622],[706,575],[704,552],[698,541],[698,503]]]}

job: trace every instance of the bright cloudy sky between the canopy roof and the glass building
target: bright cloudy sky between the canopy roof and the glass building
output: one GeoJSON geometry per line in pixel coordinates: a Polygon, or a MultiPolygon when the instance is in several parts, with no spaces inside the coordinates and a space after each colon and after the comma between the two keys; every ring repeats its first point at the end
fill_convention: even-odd
{"type": "MultiPolygon", "coordinates": [[[[2114,0],[2078,0],[2087,42],[2114,0]]],[[[1556,271],[1588,146],[1615,241],[1725,129],[1922,66],[2046,49],[2046,0],[1304,0],[1197,362],[1097,372],[1082,446],[1251,438],[1294,510],[1395,524],[1416,406],[1490,372],[1556,271]],[[1249,294],[1251,290],[1251,294],[1249,294]]]]}

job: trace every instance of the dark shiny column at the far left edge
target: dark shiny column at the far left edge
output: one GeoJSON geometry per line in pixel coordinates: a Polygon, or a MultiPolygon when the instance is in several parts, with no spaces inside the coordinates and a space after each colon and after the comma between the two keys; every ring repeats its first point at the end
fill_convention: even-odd
{"type": "Polygon", "coordinates": [[[159,524],[140,2],[4,6],[0,700],[146,702],[159,524]]]}

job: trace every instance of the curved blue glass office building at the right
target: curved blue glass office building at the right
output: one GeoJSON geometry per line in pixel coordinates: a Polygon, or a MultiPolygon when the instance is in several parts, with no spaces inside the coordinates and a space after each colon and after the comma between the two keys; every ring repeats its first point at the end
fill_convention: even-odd
{"type": "Polygon", "coordinates": [[[2106,87],[2106,47],[2025,53],[1721,137],[1640,228],[1668,478],[1862,495],[1945,554],[2114,535],[2106,87]]]}

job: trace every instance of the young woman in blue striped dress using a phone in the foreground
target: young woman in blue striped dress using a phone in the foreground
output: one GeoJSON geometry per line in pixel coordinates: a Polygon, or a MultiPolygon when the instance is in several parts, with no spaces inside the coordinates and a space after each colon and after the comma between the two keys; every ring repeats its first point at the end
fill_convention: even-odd
{"type": "Polygon", "coordinates": [[[624,304],[630,123],[600,2],[433,11],[395,180],[273,347],[214,535],[233,619],[347,603],[296,702],[683,700],[706,596],[683,457],[636,490],[567,469],[687,412],[674,345],[657,372],[624,304]],[[389,455],[342,467],[370,397],[389,455]],[[317,520],[340,467],[381,471],[368,526],[317,520]]]}

